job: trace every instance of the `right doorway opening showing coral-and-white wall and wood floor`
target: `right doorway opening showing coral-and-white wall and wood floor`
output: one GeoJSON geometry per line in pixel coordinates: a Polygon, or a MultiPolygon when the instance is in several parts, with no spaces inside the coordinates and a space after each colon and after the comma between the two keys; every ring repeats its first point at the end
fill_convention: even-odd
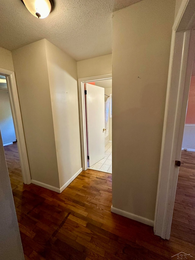
{"type": "Polygon", "coordinates": [[[195,230],[195,60],[183,132],[171,236],[194,243],[195,230]]]}

